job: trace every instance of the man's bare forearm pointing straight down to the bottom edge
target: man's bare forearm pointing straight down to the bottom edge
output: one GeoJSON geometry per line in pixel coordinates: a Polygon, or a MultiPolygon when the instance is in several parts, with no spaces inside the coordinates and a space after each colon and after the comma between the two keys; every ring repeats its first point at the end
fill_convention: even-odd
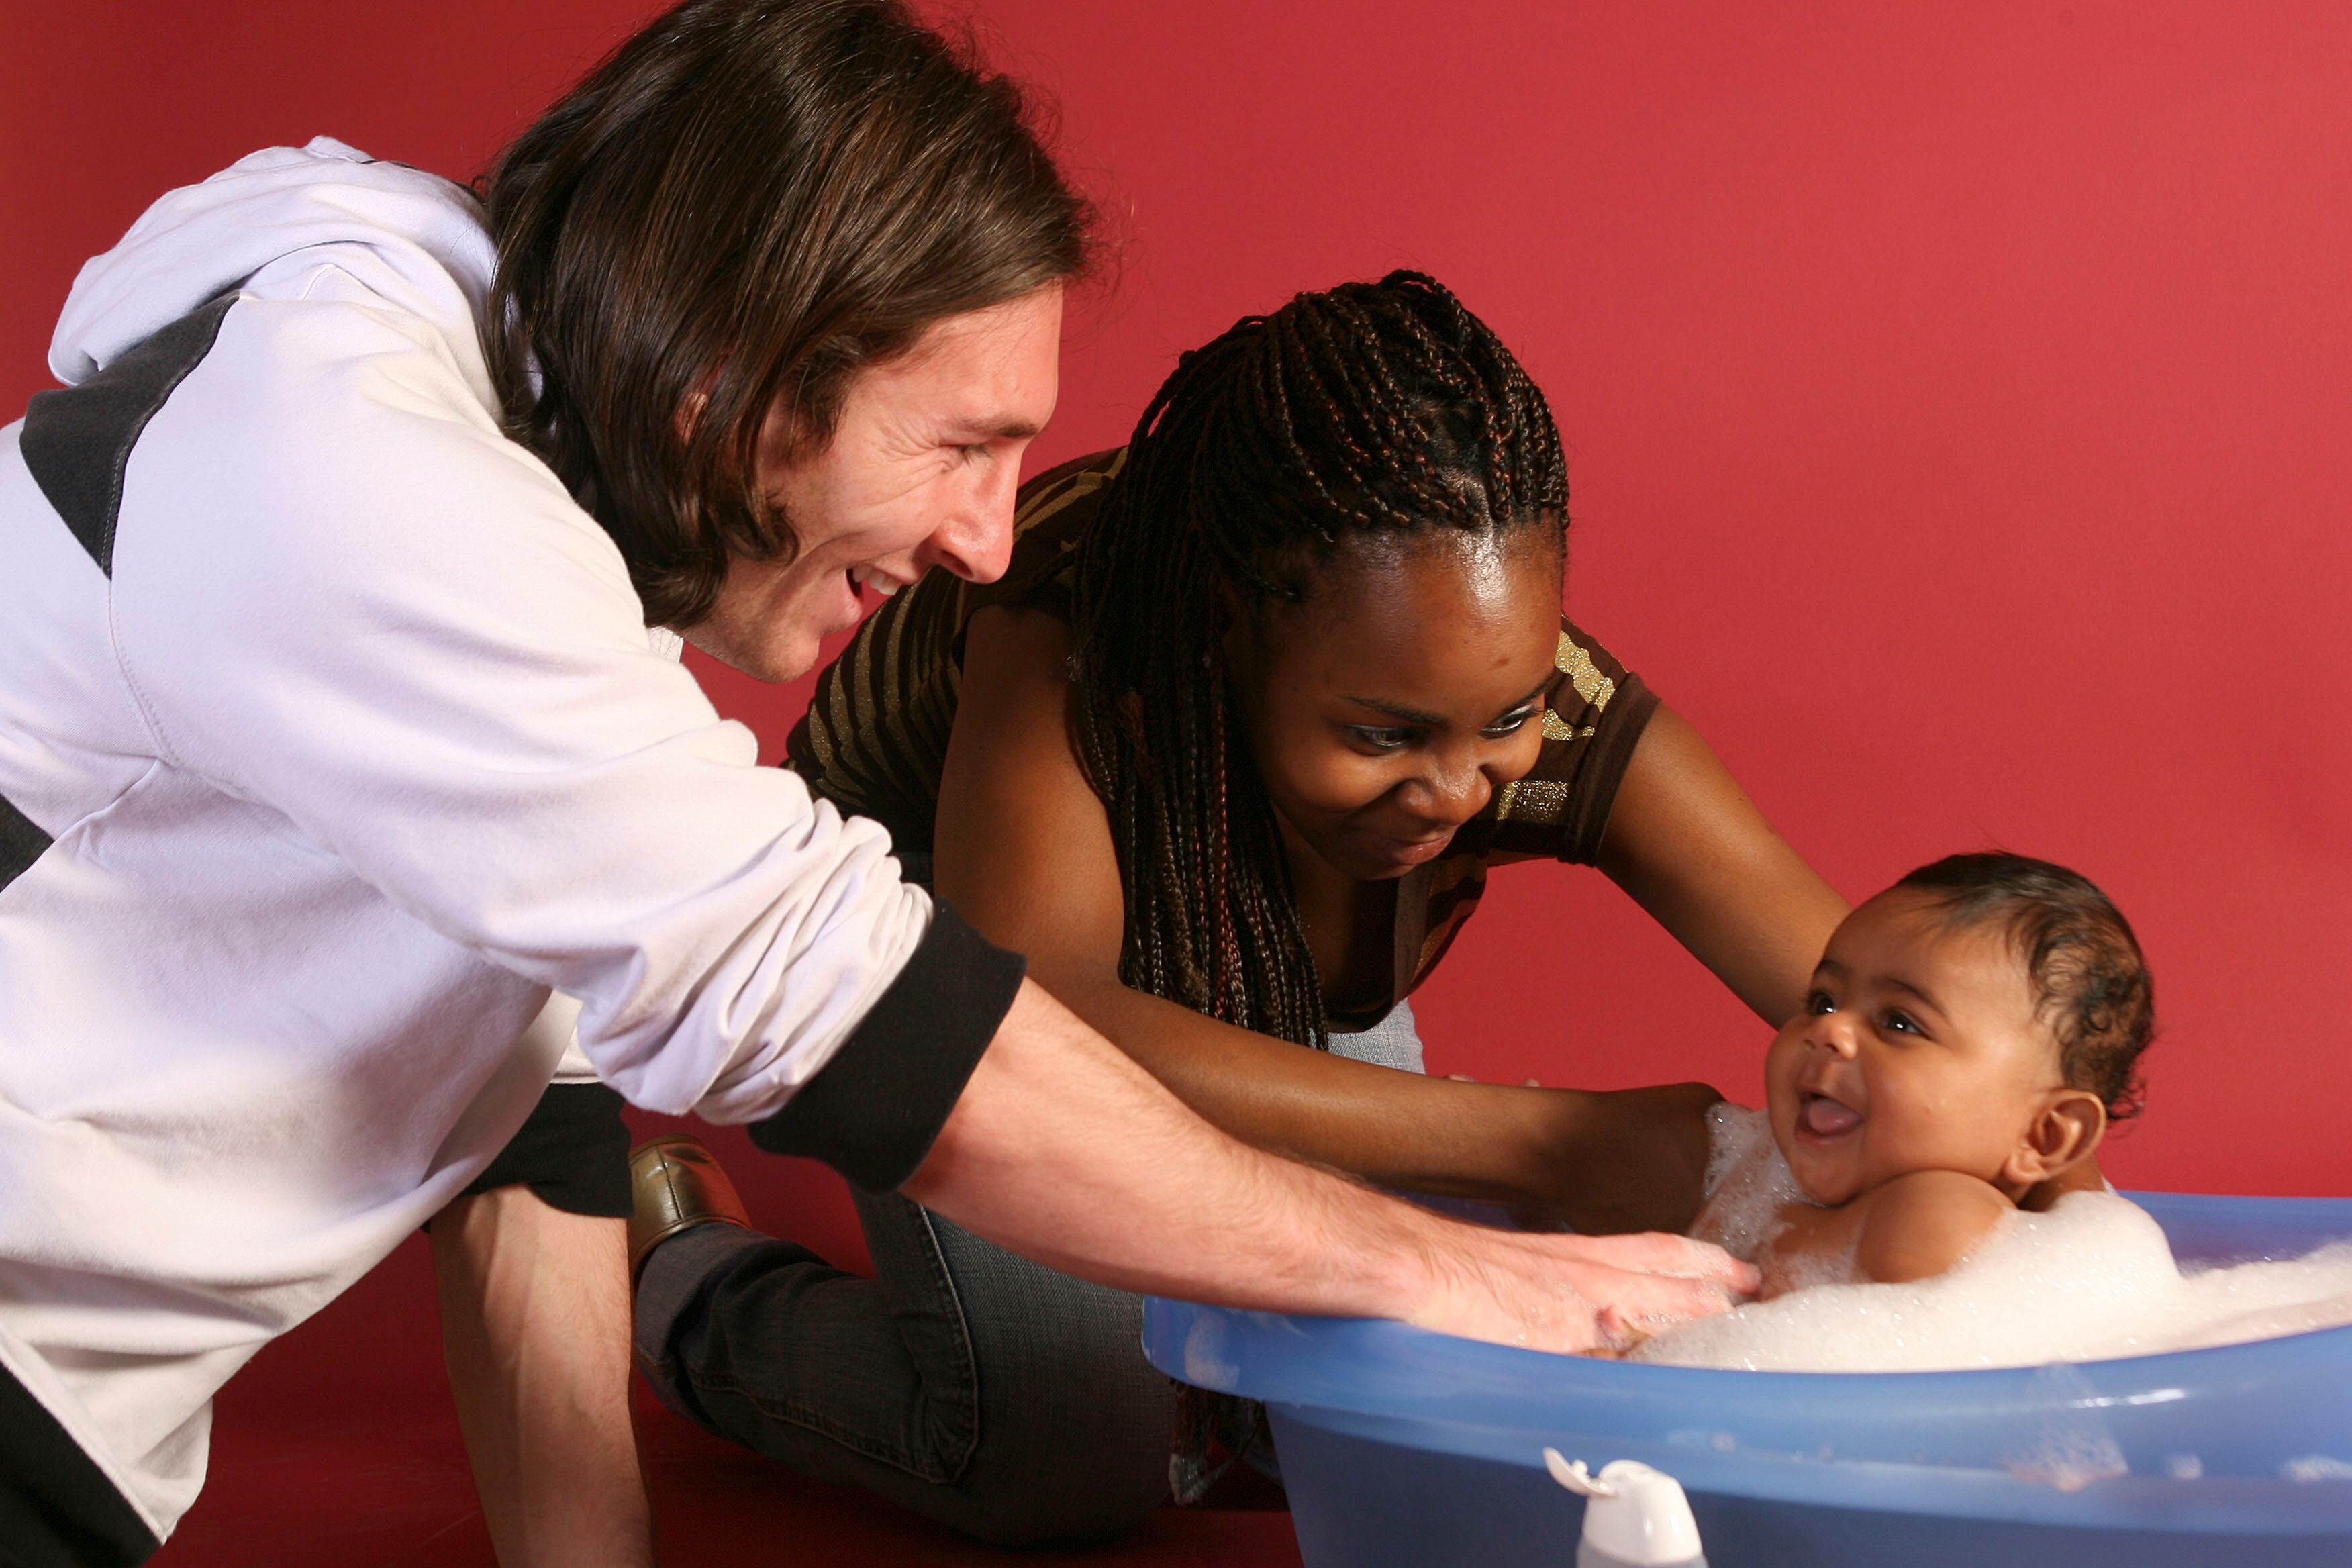
{"type": "Polygon", "coordinates": [[[628,1415],[623,1220],[529,1187],[433,1218],[442,1349],[501,1568],[652,1568],[628,1415]]]}

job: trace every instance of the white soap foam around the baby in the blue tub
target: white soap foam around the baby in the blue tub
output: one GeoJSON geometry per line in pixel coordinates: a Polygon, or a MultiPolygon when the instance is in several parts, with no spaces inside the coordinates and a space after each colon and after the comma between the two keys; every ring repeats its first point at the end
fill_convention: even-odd
{"type": "MultiPolygon", "coordinates": [[[[1752,1255],[1795,1178],[1762,1112],[1717,1107],[1700,1234],[1752,1255]]],[[[1900,1286],[1818,1284],[1698,1319],[1635,1361],[1783,1373],[1929,1373],[2110,1361],[2352,1324],[2352,1244],[2183,1274],[2147,1213],[2077,1192],[2006,1215],[1959,1267],[1900,1286]]],[[[2098,1469],[2100,1455],[2053,1455],[2098,1469]]]]}

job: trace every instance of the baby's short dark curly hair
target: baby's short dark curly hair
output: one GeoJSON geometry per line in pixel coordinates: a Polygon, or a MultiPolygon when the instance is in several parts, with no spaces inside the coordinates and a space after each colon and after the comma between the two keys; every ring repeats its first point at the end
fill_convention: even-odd
{"type": "Polygon", "coordinates": [[[2082,872],[2011,853],[1945,856],[1896,886],[1929,893],[1962,929],[1999,926],[2025,961],[2058,1067],[2107,1105],[2140,1114],[2140,1053],[2157,1037],[2157,985],[2131,922],[2082,872]]]}

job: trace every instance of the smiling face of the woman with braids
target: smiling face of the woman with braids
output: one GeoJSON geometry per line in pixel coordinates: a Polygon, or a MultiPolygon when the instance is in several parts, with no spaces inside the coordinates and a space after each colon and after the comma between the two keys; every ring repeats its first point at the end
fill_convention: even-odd
{"type": "Polygon", "coordinates": [[[1228,639],[1275,811],[1359,882],[1402,877],[1536,766],[1559,644],[1559,534],[1350,536],[1301,604],[1228,639]]]}

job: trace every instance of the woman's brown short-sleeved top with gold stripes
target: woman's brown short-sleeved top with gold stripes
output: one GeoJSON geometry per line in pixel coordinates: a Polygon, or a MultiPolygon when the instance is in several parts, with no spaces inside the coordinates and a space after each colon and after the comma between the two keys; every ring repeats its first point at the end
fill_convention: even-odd
{"type": "MultiPolygon", "coordinates": [[[[1098,451],[1023,484],[1014,559],[1002,581],[929,571],[868,616],[816,679],[786,766],[842,811],[889,827],[901,853],[929,853],[964,675],[964,625],[988,604],[1068,618],[1077,541],[1124,461],[1124,449],[1098,451]]],[[[1599,853],[1618,780],[1658,698],[1564,616],[1557,663],[1534,771],[1505,785],[1444,856],[1414,867],[1397,889],[1392,999],[1421,985],[1444,957],[1486,891],[1494,860],[1543,856],[1590,865],[1599,853]]]]}

